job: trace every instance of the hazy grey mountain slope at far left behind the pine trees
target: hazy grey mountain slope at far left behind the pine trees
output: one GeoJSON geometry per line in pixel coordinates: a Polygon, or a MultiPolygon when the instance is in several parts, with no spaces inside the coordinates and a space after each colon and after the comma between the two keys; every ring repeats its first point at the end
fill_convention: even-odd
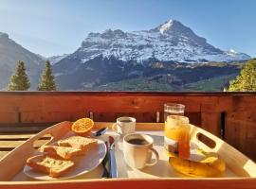
{"type": "Polygon", "coordinates": [[[18,60],[25,62],[31,89],[36,89],[45,60],[9,39],[8,34],[0,32],[0,90],[7,88],[18,60]]]}

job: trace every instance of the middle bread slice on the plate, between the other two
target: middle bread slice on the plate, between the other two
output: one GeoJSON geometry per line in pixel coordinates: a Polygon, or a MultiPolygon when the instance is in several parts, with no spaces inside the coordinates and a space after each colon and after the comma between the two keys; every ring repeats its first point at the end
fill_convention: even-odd
{"type": "Polygon", "coordinates": [[[42,146],[41,151],[46,152],[51,157],[61,157],[65,160],[82,154],[82,149],[64,146],[42,146]]]}

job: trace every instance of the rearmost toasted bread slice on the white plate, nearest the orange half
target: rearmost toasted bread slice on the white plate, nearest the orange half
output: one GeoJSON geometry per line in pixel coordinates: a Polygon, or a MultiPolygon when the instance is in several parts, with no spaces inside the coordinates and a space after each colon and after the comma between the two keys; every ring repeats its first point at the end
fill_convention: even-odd
{"type": "Polygon", "coordinates": [[[86,138],[82,136],[71,136],[64,140],[58,141],[59,146],[69,146],[77,149],[82,149],[82,151],[88,150],[92,146],[97,146],[98,142],[96,139],[86,138]]]}

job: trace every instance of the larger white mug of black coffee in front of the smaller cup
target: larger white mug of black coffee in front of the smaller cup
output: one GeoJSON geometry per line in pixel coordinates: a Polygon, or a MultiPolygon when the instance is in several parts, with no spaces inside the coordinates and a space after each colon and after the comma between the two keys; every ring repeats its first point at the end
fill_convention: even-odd
{"type": "Polygon", "coordinates": [[[153,148],[154,140],[146,134],[133,133],[123,138],[123,156],[125,162],[137,169],[155,165],[159,160],[157,151],[153,148]],[[155,162],[149,163],[155,154],[155,162]]]}

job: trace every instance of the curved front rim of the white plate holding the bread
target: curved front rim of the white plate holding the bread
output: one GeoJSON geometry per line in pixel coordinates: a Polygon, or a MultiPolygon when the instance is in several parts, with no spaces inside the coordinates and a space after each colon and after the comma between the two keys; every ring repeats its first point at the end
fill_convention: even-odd
{"type": "MultiPolygon", "coordinates": [[[[28,170],[29,170],[29,171],[31,170],[32,172],[35,172],[35,171],[33,171],[33,169],[32,169],[30,166],[28,166],[27,163],[25,163],[25,165],[24,165],[23,173],[24,173],[27,177],[29,177],[29,178],[31,178],[31,179],[34,179],[34,180],[68,180],[68,179],[73,179],[73,178],[79,177],[79,176],[81,176],[81,175],[83,175],[83,174],[89,173],[89,172],[93,171],[95,168],[97,168],[97,167],[102,163],[104,157],[105,157],[106,154],[107,154],[107,147],[105,146],[105,142],[102,141],[101,139],[96,139],[96,140],[97,140],[97,142],[98,142],[98,145],[103,145],[104,153],[103,153],[103,155],[102,155],[102,157],[101,157],[101,161],[99,161],[97,164],[95,164],[95,165],[93,166],[93,168],[91,168],[90,170],[88,170],[88,171],[85,172],[85,173],[84,173],[84,172],[81,172],[81,173],[78,173],[78,174],[76,174],[76,175],[74,175],[74,176],[53,178],[53,177],[48,176],[46,173],[36,172],[37,174],[40,174],[40,175],[42,175],[42,176],[49,177],[49,179],[41,179],[41,178],[39,178],[40,176],[39,176],[39,177],[34,177],[34,176],[32,176],[32,175],[30,175],[30,174],[28,173],[28,170]]],[[[50,145],[52,145],[52,144],[50,144],[50,145]]],[[[34,153],[33,155],[35,155],[35,153],[34,153]]],[[[43,155],[43,153],[42,153],[42,155],[43,155]]],[[[85,155],[86,155],[86,154],[85,154],[85,155]]]]}

